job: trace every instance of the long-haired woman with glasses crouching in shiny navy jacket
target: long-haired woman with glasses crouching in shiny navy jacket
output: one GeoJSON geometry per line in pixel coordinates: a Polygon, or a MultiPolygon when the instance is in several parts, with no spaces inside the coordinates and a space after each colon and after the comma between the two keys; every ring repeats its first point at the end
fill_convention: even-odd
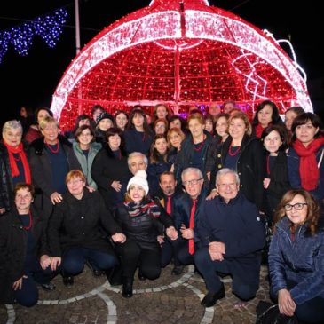
{"type": "Polygon", "coordinates": [[[269,251],[271,295],[301,322],[324,322],[324,222],[312,194],[288,191],[275,214],[269,251]]]}

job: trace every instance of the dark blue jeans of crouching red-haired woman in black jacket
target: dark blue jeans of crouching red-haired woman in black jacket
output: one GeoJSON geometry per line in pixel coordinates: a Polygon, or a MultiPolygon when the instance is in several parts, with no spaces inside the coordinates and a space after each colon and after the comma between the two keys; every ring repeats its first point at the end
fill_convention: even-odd
{"type": "Polygon", "coordinates": [[[68,249],[64,253],[62,258],[63,272],[72,275],[82,273],[87,261],[100,270],[107,270],[118,263],[113,252],[109,254],[96,249],[77,247],[68,249]]]}

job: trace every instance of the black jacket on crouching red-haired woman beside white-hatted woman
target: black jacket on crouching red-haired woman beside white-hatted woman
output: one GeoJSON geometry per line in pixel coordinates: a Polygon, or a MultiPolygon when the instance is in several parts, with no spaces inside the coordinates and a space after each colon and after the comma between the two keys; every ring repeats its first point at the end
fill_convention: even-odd
{"type": "Polygon", "coordinates": [[[81,200],[70,193],[64,194],[63,201],[55,205],[47,229],[51,256],[62,257],[74,247],[113,253],[100,226],[107,235],[122,232],[97,191],[90,193],[85,188],[81,200]]]}

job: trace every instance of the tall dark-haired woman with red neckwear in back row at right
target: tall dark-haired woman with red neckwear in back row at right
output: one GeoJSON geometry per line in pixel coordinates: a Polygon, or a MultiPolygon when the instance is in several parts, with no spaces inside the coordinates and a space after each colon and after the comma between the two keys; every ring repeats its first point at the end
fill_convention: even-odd
{"type": "Polygon", "coordinates": [[[261,138],[262,132],[270,125],[282,125],[278,107],[271,100],[262,101],[257,106],[252,122],[252,135],[261,138]]]}

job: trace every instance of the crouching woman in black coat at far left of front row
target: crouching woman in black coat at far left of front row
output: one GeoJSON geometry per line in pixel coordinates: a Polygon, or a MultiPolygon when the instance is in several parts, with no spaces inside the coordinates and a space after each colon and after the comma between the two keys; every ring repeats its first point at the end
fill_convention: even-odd
{"type": "Polygon", "coordinates": [[[0,304],[37,304],[38,288],[53,290],[45,221],[33,208],[34,187],[18,183],[12,209],[0,217],[0,304]]]}

